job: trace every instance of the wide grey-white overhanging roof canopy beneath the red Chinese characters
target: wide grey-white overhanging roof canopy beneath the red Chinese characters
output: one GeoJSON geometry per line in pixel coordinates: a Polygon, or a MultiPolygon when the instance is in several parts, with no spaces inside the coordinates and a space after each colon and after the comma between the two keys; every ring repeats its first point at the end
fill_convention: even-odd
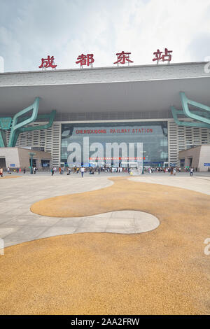
{"type": "Polygon", "coordinates": [[[0,73],[0,116],[40,97],[38,113],[169,111],[179,92],[210,106],[206,63],[0,73]]]}

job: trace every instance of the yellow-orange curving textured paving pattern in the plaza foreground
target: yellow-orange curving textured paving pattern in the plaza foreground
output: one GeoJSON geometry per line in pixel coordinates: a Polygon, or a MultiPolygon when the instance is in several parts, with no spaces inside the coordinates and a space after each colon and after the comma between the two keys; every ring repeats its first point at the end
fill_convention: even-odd
{"type": "Polygon", "coordinates": [[[210,196],[113,181],[109,188],[44,200],[32,209],[47,216],[140,210],[158,217],[160,226],[139,235],[83,233],[6,248],[0,255],[0,314],[210,313],[210,256],[204,254],[210,196]]]}

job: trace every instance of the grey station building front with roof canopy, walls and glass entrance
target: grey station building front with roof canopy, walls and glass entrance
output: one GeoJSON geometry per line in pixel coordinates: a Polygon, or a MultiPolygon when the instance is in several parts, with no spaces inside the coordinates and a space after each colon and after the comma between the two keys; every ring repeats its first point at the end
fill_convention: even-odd
{"type": "MultiPolygon", "coordinates": [[[[145,165],[180,166],[180,151],[210,144],[210,125],[178,125],[171,107],[181,109],[180,92],[210,106],[209,87],[210,73],[203,62],[1,73],[0,117],[14,116],[36,97],[39,113],[55,109],[51,127],[21,132],[16,143],[51,153],[53,167],[69,165],[70,158],[73,162],[74,147],[80,148],[83,165],[99,158],[113,165],[114,153],[107,157],[107,144],[127,147],[119,153],[120,163],[126,165],[137,161],[138,143],[143,145],[145,165]]],[[[207,109],[205,120],[209,114],[207,109]]],[[[195,122],[189,117],[180,120],[195,122]]],[[[30,125],[45,123],[43,119],[30,125]]],[[[9,137],[8,130],[7,141],[9,137]]]]}

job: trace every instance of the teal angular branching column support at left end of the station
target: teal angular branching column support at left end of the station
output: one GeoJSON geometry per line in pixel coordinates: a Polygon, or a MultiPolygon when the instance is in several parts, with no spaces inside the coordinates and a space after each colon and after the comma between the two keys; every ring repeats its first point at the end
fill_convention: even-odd
{"type": "Polygon", "coordinates": [[[0,118],[0,147],[6,147],[6,130],[10,130],[10,139],[8,141],[8,147],[15,147],[18,137],[21,132],[31,132],[32,130],[47,129],[52,126],[55,119],[55,110],[52,110],[50,114],[43,114],[38,116],[39,97],[36,97],[33,104],[26,109],[15,114],[14,118],[0,118]],[[31,116],[24,116],[32,111],[31,116]],[[48,123],[45,125],[29,126],[38,119],[48,119],[48,123]]]}

